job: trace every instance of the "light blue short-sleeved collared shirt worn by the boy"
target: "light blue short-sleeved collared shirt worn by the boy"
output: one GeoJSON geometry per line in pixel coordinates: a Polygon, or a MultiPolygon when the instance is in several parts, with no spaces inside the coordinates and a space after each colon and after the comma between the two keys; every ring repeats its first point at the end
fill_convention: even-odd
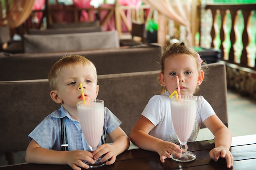
{"type": "MultiPolygon", "coordinates": [[[[34,139],[41,147],[50,150],[61,150],[61,118],[66,117],[65,125],[69,150],[90,150],[85,141],[79,121],[72,119],[67,110],[60,109],[49,114],[28,135],[29,142],[34,139]]],[[[114,131],[122,122],[105,107],[104,131],[108,134],[114,131]]],[[[99,143],[101,145],[101,141],[99,143]]]]}

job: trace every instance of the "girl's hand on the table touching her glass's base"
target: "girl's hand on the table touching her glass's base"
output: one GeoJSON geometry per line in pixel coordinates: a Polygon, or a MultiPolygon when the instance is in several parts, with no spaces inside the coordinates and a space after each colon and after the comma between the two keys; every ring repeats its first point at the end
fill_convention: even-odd
{"type": "Polygon", "coordinates": [[[175,143],[171,143],[168,141],[161,141],[157,145],[157,153],[160,155],[160,161],[164,163],[164,159],[171,158],[171,154],[173,154],[176,157],[180,157],[179,153],[182,152],[179,145],[176,145],[175,143]]]}

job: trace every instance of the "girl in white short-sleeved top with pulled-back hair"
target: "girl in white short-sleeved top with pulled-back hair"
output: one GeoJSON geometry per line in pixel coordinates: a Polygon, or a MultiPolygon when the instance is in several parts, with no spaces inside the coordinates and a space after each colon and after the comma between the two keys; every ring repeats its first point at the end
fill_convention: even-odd
{"type": "MultiPolygon", "coordinates": [[[[179,142],[175,139],[175,130],[171,123],[169,99],[170,94],[178,89],[176,76],[179,77],[180,93],[193,95],[204,79],[202,64],[205,63],[202,62],[199,54],[184,42],[171,45],[162,54],[159,73],[162,94],[150,99],[130,134],[132,143],[141,149],[157,152],[161,162],[171,158],[171,154],[180,157],[178,152],[182,152],[179,145],[175,144],[179,142]]],[[[215,148],[209,153],[211,159],[218,161],[219,157],[225,158],[227,168],[230,168],[233,166],[233,156],[229,151],[231,146],[229,129],[216,116],[203,96],[198,97],[197,103],[197,121],[189,141],[195,141],[200,125],[204,123],[215,136],[215,148]]]]}

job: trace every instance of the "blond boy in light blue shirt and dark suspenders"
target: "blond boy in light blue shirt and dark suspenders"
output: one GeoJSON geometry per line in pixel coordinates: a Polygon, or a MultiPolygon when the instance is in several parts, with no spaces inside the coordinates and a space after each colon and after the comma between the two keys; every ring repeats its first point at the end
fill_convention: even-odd
{"type": "Polygon", "coordinates": [[[61,108],[49,114],[29,134],[29,145],[26,161],[29,163],[68,164],[74,170],[88,169],[84,163],[94,163],[101,158],[106,165],[115,162],[118,154],[129,148],[129,139],[119,127],[121,121],[105,107],[104,132],[112,141],[111,145],[99,143],[99,147],[91,152],[81,131],[76,103],[83,100],[80,83],[84,95],[96,99],[99,92],[97,71],[93,63],[83,56],[66,56],[55,63],[48,75],[53,101],[61,104],[61,108]],[[68,150],[61,151],[61,118],[64,118],[68,150]],[[80,168],[81,167],[81,168],[80,168]]]}

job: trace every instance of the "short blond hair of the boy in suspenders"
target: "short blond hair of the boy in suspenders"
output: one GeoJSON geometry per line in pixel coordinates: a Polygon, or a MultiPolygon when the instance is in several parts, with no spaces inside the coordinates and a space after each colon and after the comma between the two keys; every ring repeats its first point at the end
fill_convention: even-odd
{"type": "Polygon", "coordinates": [[[91,67],[94,71],[94,76],[96,78],[96,83],[98,81],[97,79],[97,70],[94,64],[88,60],[87,58],[79,55],[70,55],[70,56],[63,56],[60,60],[58,60],[51,68],[49,74],[48,74],[48,80],[50,83],[50,87],[52,90],[58,89],[57,83],[58,83],[58,77],[61,73],[62,69],[65,69],[67,67],[76,67],[77,65],[84,65],[91,67]]]}

